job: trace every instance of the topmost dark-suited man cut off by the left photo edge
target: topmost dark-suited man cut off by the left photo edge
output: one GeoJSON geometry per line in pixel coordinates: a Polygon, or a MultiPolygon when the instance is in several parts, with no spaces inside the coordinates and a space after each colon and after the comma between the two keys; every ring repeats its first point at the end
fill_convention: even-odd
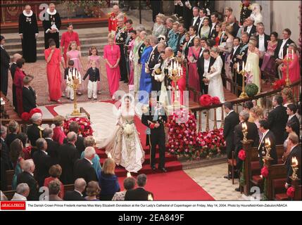
{"type": "Polygon", "coordinates": [[[4,49],[5,38],[1,35],[0,36],[0,54],[1,54],[1,89],[4,96],[7,95],[7,88],[8,88],[8,69],[9,69],[9,62],[11,58],[9,57],[7,51],[4,49]]]}

